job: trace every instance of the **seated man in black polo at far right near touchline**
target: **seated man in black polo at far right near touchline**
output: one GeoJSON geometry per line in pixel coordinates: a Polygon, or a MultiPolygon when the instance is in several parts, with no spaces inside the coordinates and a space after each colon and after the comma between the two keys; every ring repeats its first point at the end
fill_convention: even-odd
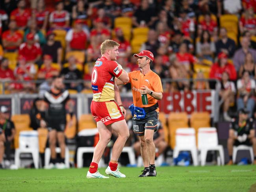
{"type": "Polygon", "coordinates": [[[232,119],[228,137],[228,155],[230,160],[228,165],[233,164],[232,153],[233,146],[247,145],[252,146],[254,151],[254,164],[256,164],[256,138],[254,123],[252,118],[248,117],[249,111],[243,108],[239,110],[237,119],[232,119]]]}

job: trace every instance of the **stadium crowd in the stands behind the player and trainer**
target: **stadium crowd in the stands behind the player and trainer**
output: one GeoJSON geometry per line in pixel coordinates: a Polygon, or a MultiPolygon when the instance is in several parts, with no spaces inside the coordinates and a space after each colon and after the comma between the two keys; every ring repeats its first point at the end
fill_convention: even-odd
{"type": "Polygon", "coordinates": [[[184,79],[165,83],[166,91],[218,87],[224,120],[234,103],[253,117],[255,11],[255,0],[4,0],[0,79],[17,80],[3,84],[5,94],[49,90],[56,75],[72,81],[70,92],[90,93],[99,46],[113,39],[127,72],[138,69],[133,53],[150,50],[161,79],[184,79]]]}

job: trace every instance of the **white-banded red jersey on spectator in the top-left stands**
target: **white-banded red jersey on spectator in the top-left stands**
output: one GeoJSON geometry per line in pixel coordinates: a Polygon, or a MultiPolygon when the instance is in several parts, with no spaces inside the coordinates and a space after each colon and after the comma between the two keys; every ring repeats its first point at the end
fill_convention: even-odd
{"type": "Polygon", "coordinates": [[[66,21],[68,20],[69,20],[69,12],[67,11],[61,11],[61,12],[53,11],[50,14],[50,19],[49,19],[51,23],[54,23],[56,24],[56,26],[59,26],[59,27],[65,26],[66,21]]]}

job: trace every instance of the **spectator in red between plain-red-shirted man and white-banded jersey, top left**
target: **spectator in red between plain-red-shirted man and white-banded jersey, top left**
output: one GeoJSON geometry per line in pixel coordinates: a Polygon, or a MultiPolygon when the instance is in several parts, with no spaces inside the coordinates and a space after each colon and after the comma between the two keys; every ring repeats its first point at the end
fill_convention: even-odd
{"type": "Polygon", "coordinates": [[[46,30],[48,26],[48,18],[49,18],[50,11],[45,9],[45,1],[38,0],[37,6],[32,12],[33,18],[37,22],[37,27],[41,30],[46,30]]]}

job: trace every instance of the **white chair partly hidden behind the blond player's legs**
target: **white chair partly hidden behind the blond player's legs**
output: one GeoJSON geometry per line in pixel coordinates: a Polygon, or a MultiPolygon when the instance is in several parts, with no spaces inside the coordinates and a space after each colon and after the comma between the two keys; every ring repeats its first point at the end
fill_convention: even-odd
{"type": "MultiPolygon", "coordinates": [[[[82,131],[79,131],[79,136],[93,136],[98,133],[98,129],[83,129],[82,131]]],[[[83,153],[93,153],[95,147],[79,147],[77,149],[76,154],[76,161],[77,161],[77,167],[82,168],[83,167],[83,153]]],[[[104,159],[101,158],[100,162],[98,163],[98,167],[105,167],[104,159]]]]}

